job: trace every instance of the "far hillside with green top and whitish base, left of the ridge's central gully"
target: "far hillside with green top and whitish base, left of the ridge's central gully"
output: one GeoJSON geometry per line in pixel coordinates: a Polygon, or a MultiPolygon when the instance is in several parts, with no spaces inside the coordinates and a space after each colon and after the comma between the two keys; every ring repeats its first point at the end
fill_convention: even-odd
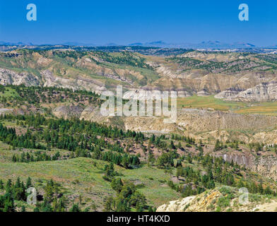
{"type": "Polygon", "coordinates": [[[85,89],[141,87],[158,78],[144,57],[131,52],[18,49],[0,53],[0,83],[85,89]]]}

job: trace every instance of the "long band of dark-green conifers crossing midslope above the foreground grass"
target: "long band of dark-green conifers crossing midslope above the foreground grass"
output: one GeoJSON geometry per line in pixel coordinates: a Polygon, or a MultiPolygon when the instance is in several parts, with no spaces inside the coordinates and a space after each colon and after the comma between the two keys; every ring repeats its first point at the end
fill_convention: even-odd
{"type": "MultiPolygon", "coordinates": [[[[164,135],[146,138],[143,133],[135,131],[123,131],[116,126],[106,126],[96,122],[85,121],[80,119],[52,119],[46,118],[40,114],[30,115],[11,115],[5,114],[0,116],[0,120],[13,120],[18,125],[28,126],[27,133],[17,136],[15,129],[8,129],[5,126],[0,126],[0,140],[13,145],[13,148],[36,148],[51,150],[51,148],[59,148],[71,151],[70,157],[93,157],[98,160],[113,162],[117,165],[122,165],[129,168],[131,165],[139,165],[139,155],[131,155],[128,153],[129,148],[134,143],[141,143],[141,146],[146,153],[148,150],[149,162],[155,162],[151,146],[169,150],[170,154],[163,154],[158,157],[157,165],[160,167],[170,167],[173,165],[173,159],[179,157],[177,148],[182,148],[181,143],[177,145],[170,140],[167,144],[164,135]],[[11,136],[8,134],[11,133],[11,136]],[[126,146],[122,141],[129,139],[129,144],[126,146]],[[23,142],[24,140],[24,142],[23,142]],[[143,141],[148,140],[148,148],[143,146],[143,141]],[[47,145],[42,145],[46,143],[47,145]],[[124,149],[126,148],[126,152],[124,149]],[[110,151],[105,151],[110,150],[110,151]]],[[[176,140],[186,141],[191,144],[195,143],[193,138],[184,136],[173,136],[176,140]]],[[[201,148],[201,146],[200,146],[201,148]]],[[[40,157],[14,155],[13,161],[36,161],[36,160],[53,160],[49,155],[40,157]]],[[[54,157],[54,160],[56,158],[54,157]]]]}

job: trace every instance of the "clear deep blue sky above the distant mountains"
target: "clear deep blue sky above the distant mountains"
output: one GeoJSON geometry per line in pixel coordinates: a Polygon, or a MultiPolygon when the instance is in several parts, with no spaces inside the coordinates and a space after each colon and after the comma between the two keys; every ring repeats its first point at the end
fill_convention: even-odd
{"type": "Polygon", "coordinates": [[[277,44],[277,1],[0,0],[0,41],[58,44],[82,42],[249,42],[277,44]],[[37,21],[26,6],[37,6],[37,21]],[[249,5],[249,21],[238,6],[249,5]]]}

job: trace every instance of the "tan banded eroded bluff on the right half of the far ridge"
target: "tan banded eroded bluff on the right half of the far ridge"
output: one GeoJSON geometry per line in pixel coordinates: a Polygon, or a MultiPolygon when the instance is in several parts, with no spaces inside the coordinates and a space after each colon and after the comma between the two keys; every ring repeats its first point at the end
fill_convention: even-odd
{"type": "MultiPolygon", "coordinates": [[[[148,85],[161,90],[174,88],[175,90],[184,90],[189,93],[200,95],[218,94],[226,90],[247,90],[261,83],[277,81],[276,73],[265,71],[261,66],[253,70],[252,67],[257,63],[250,60],[247,64],[243,63],[243,70],[225,71],[227,64],[229,67],[242,66],[244,57],[240,54],[206,54],[203,52],[189,52],[179,56],[179,59],[189,58],[201,60],[199,64],[208,64],[210,61],[222,62],[222,67],[213,68],[210,71],[199,67],[189,67],[181,64],[167,64],[162,61],[155,66],[155,71],[161,76],[153,84],[148,85]],[[203,92],[206,90],[206,92],[203,92]]],[[[230,69],[228,67],[228,69],[230,69]]],[[[228,92],[227,94],[229,94],[228,92]]],[[[237,93],[235,93],[237,94],[237,93]]],[[[223,95],[224,93],[220,93],[223,95]]],[[[218,97],[220,97],[220,95],[218,97]]]]}

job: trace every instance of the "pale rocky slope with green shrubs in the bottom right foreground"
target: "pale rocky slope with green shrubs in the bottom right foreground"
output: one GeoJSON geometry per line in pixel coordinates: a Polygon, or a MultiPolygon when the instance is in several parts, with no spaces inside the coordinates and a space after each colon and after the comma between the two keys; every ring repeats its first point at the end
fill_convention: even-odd
{"type": "Polygon", "coordinates": [[[274,212],[277,199],[257,194],[243,195],[238,189],[222,186],[159,206],[157,212],[274,212]],[[248,196],[248,201],[244,197],[248,196]],[[241,198],[240,198],[241,197],[241,198]],[[241,203],[240,203],[241,200],[241,203]]]}

